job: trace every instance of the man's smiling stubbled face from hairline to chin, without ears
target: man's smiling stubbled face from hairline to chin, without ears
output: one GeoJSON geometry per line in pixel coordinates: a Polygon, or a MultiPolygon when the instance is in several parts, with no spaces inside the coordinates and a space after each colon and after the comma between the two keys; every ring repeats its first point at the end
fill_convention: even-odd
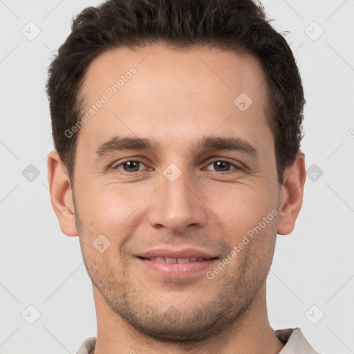
{"type": "Polygon", "coordinates": [[[265,90],[256,59],[215,48],[118,48],[89,67],[85,112],[104,104],[77,140],[77,230],[100,296],[143,333],[209,337],[264,285],[279,207],[265,90]],[[102,147],[115,137],[156,149],[102,147]],[[207,137],[254,151],[200,146],[207,137]]]}

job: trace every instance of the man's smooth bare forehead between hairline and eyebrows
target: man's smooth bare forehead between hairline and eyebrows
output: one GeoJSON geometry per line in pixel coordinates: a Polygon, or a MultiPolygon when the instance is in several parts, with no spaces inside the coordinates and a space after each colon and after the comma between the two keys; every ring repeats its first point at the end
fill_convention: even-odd
{"type": "Polygon", "coordinates": [[[82,96],[82,114],[92,113],[80,129],[87,149],[114,135],[153,136],[172,146],[172,138],[191,140],[196,132],[257,140],[268,129],[265,78],[247,53],[161,44],[115,48],[88,67],[82,96]]]}

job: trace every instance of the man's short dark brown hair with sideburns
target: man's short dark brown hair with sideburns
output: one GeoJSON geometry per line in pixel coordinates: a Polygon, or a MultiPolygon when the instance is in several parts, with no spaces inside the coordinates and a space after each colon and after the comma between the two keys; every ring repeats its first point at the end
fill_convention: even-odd
{"type": "Polygon", "coordinates": [[[80,91],[88,66],[120,46],[165,42],[176,47],[210,45],[256,57],[268,88],[267,122],[274,136],[279,183],[295,161],[302,139],[304,90],[292,50],[252,0],[108,0],[82,10],[48,68],[46,92],[55,149],[71,182],[77,135],[65,134],[80,119],[80,91]]]}

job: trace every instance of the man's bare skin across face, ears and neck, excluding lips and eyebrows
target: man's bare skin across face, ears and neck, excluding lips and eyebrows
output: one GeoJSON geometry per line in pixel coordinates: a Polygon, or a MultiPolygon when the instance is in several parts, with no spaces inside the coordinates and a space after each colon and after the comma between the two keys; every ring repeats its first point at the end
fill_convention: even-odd
{"type": "Polygon", "coordinates": [[[75,195],[57,152],[48,156],[55,214],[64,234],[79,235],[93,282],[95,354],[279,353],[265,279],[277,234],[295,226],[306,169],[299,152],[279,185],[261,66],[251,55],[216,48],[116,48],[88,68],[86,108],[131,67],[136,73],[80,129],[75,195]],[[252,98],[246,111],[234,104],[241,93],[252,98]],[[114,136],[151,138],[160,149],[97,159],[97,148],[114,136]],[[241,138],[258,157],[195,150],[205,136],[241,138]],[[230,165],[218,167],[220,160],[230,165]],[[127,161],[141,163],[129,169],[127,161]],[[181,173],[174,182],[164,174],[171,163],[181,173]],[[215,265],[169,279],[136,258],[158,247],[192,247],[222,261],[272,210],[272,221],[214,279],[206,272],[215,265]],[[93,246],[100,234],[111,242],[102,253],[93,246]]]}

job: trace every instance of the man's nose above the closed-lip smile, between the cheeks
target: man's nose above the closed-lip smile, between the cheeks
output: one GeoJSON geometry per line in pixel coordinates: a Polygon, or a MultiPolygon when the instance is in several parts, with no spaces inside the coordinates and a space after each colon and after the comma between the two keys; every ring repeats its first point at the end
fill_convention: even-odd
{"type": "Polygon", "coordinates": [[[149,223],[152,227],[166,227],[172,232],[185,232],[187,227],[203,227],[207,221],[207,207],[198,181],[186,171],[176,180],[165,175],[160,187],[150,198],[149,223]]]}

